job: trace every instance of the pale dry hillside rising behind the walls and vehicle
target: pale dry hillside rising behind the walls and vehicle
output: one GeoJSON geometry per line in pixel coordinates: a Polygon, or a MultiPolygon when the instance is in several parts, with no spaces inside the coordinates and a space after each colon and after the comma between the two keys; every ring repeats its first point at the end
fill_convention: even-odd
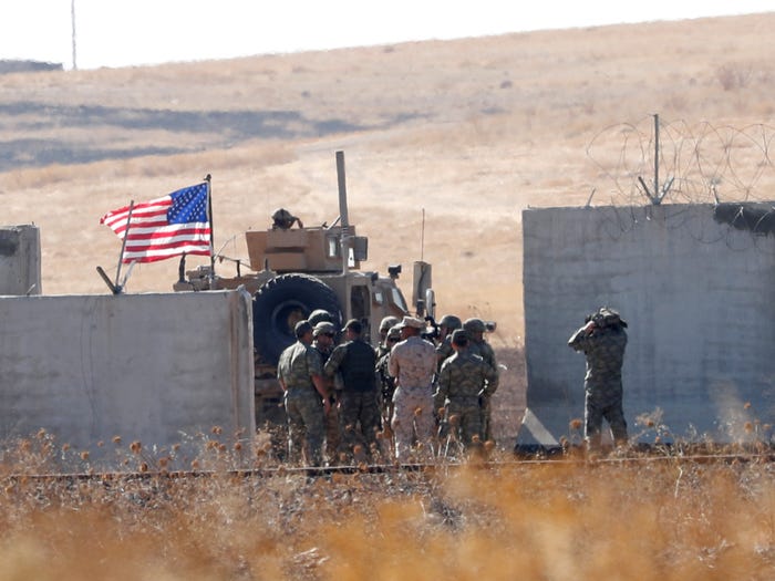
{"type": "MultiPolygon", "coordinates": [[[[335,218],[343,149],[366,268],[409,273],[422,257],[442,312],[495,319],[494,341],[518,344],[521,210],[592,193],[644,204],[632,168],[648,180],[653,114],[673,145],[713,135],[737,152],[695,168],[666,203],[706,200],[711,180],[724,199],[772,198],[760,144],[775,116],[773,28],[768,13],[7,74],[3,224],[41,227],[46,294],[102,293],[95,266],[113,272],[120,251],[99,224],[107,210],[209,173],[216,247],[247,258],[242,232],[279,206],[308,225],[335,218]]],[[[679,184],[690,169],[674,165],[679,184]]],[[[166,291],[176,276],[173,260],[142,266],[128,290],[166,291]]]]}

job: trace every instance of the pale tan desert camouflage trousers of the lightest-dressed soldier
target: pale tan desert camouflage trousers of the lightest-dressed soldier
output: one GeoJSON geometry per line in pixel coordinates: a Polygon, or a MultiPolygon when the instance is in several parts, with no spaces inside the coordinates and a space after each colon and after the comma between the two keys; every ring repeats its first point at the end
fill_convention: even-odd
{"type": "Polygon", "coordinates": [[[391,427],[395,438],[395,457],[403,461],[412,452],[416,439],[424,450],[423,456],[433,457],[433,432],[435,427],[432,387],[399,386],[393,394],[393,418],[391,427]]]}

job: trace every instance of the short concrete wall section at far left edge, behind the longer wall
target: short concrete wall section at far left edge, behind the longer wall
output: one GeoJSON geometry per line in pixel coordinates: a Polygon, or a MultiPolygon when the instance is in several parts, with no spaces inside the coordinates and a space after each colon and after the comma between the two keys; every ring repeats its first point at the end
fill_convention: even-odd
{"type": "Polygon", "coordinates": [[[40,294],[40,229],[0,227],[0,294],[40,294]]]}

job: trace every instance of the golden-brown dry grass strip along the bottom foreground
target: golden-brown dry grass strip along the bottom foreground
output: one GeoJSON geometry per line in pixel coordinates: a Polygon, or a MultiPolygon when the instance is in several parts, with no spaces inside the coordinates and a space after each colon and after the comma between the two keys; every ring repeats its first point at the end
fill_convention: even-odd
{"type": "Polygon", "coordinates": [[[2,478],[0,578],[773,579],[767,463],[2,478]]]}

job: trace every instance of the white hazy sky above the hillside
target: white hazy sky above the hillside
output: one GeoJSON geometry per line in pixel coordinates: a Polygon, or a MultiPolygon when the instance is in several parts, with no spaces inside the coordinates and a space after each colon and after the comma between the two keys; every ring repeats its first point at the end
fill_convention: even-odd
{"type": "Polygon", "coordinates": [[[1,0],[0,59],[79,69],[775,11],[775,0],[1,0]]]}

